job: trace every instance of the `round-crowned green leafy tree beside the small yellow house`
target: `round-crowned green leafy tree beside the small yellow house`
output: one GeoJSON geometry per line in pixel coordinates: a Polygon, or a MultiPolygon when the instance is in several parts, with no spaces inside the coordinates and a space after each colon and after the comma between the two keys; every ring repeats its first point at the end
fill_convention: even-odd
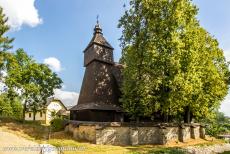
{"type": "Polygon", "coordinates": [[[47,98],[54,94],[54,89],[61,88],[62,80],[47,65],[37,63],[23,49],[18,49],[15,54],[6,54],[4,64],[8,97],[11,100],[21,97],[24,100],[23,115],[29,106],[35,119],[36,112],[44,107],[47,98]]]}

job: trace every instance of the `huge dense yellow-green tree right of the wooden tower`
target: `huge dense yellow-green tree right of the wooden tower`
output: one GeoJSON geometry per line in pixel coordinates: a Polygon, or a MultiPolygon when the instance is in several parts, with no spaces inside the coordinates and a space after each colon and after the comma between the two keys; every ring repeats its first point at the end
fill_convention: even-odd
{"type": "Polygon", "coordinates": [[[120,19],[123,96],[133,117],[200,119],[219,107],[229,70],[191,0],[131,0],[120,19]]]}

